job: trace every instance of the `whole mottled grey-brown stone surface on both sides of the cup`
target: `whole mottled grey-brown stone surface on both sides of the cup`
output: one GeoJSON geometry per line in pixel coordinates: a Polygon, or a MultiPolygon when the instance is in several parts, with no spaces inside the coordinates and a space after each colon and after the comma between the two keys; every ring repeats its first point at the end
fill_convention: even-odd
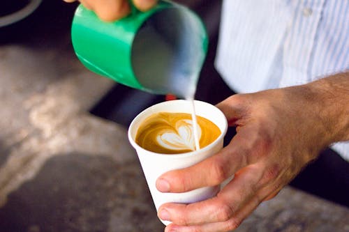
{"type": "MultiPolygon", "coordinates": [[[[89,114],[114,83],[77,61],[52,2],[0,44],[0,231],[162,231],[126,128],[89,114]]],[[[286,187],[237,231],[349,231],[349,210],[286,187]]]]}

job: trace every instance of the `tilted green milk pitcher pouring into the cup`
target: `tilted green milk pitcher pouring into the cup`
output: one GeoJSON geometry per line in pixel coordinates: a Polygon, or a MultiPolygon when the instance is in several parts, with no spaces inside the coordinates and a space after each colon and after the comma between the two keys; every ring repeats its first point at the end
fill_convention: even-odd
{"type": "Polygon", "coordinates": [[[103,22],[78,6],[72,41],[89,70],[115,82],[156,94],[193,97],[207,53],[207,32],[198,15],[170,1],[103,22]]]}

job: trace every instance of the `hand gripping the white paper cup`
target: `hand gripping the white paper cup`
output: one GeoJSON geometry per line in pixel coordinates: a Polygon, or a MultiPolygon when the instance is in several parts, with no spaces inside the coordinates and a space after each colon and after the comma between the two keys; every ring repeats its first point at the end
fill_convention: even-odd
{"type": "MultiPolygon", "coordinates": [[[[232,95],[218,104],[230,125],[237,127],[230,144],[193,167],[164,173],[156,187],[161,192],[187,192],[219,185],[232,174],[235,177],[212,199],[161,206],[158,217],[172,222],[165,231],[236,229],[262,201],[274,197],[314,160],[322,148],[340,138],[332,130],[340,119],[347,123],[344,134],[348,139],[348,109],[336,122],[325,120],[327,113],[322,107],[327,104],[321,95],[309,86],[295,86],[232,95]]],[[[329,111],[334,109],[328,107],[329,111]]]]}

